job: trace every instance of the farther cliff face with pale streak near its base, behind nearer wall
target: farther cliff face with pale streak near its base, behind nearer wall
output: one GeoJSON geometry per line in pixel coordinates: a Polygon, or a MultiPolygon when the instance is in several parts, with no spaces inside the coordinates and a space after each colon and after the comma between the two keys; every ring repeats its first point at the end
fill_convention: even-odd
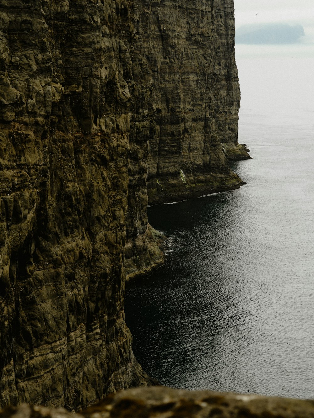
{"type": "Polygon", "coordinates": [[[141,0],[134,25],[134,112],[154,121],[149,200],[239,186],[224,154],[239,149],[233,2],[141,0]]]}

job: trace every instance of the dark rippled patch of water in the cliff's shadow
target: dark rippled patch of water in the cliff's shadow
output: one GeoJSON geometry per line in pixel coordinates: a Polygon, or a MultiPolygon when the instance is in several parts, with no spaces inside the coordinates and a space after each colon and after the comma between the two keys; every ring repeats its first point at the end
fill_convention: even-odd
{"type": "Polygon", "coordinates": [[[241,271],[241,260],[252,255],[242,245],[250,233],[239,205],[239,191],[232,191],[150,208],[173,251],[149,281],[130,286],[126,316],[136,306],[128,322],[134,350],[165,385],[234,389],[241,359],[260,335],[256,317],[267,311],[269,286],[241,271]]]}

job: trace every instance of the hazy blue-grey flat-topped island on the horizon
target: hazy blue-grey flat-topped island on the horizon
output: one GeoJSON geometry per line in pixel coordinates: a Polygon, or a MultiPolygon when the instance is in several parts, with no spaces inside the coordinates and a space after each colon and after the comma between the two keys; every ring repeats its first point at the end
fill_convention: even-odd
{"type": "Polygon", "coordinates": [[[245,25],[236,30],[235,42],[246,44],[289,44],[300,41],[304,36],[302,25],[265,23],[245,25]]]}

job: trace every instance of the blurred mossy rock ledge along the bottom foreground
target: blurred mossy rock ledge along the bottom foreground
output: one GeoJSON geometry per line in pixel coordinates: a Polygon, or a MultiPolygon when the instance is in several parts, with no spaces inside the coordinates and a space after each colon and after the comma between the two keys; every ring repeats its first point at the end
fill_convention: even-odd
{"type": "Polygon", "coordinates": [[[145,387],[110,395],[81,413],[22,404],[0,411],[0,418],[16,417],[314,417],[314,401],[272,398],[207,390],[189,392],[167,387],[145,387]]]}

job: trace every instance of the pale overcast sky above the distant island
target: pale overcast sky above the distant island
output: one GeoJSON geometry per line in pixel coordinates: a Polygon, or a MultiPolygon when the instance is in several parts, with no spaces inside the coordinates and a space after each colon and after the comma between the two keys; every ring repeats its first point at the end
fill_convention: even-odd
{"type": "Polygon", "coordinates": [[[234,9],[236,28],[266,22],[314,26],[314,0],[234,0],[234,9]]]}

